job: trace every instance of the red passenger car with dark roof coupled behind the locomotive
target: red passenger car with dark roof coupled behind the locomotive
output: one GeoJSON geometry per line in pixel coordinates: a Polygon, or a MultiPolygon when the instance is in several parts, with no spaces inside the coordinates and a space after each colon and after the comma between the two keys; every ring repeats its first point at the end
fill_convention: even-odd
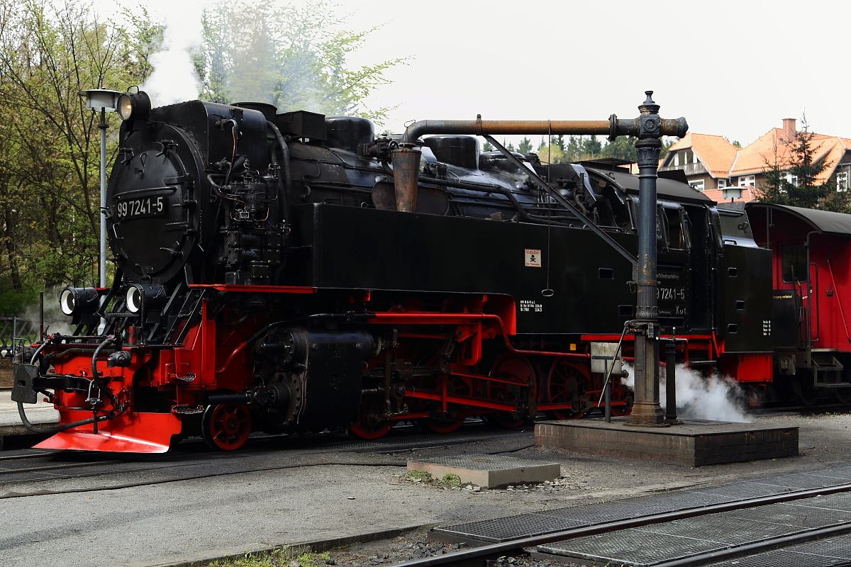
{"type": "Polygon", "coordinates": [[[749,203],[772,250],[774,382],[803,405],[851,402],[851,215],[749,203]]]}

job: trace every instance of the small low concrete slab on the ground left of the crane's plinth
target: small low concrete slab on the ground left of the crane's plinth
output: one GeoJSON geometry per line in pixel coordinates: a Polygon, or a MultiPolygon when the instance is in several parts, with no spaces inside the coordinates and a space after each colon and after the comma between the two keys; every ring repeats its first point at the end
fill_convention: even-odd
{"type": "Polygon", "coordinates": [[[442,479],[446,474],[457,474],[462,483],[496,488],[557,479],[561,465],[557,462],[542,462],[518,459],[504,455],[443,456],[426,461],[408,461],[408,470],[424,471],[433,478],[442,479]]]}

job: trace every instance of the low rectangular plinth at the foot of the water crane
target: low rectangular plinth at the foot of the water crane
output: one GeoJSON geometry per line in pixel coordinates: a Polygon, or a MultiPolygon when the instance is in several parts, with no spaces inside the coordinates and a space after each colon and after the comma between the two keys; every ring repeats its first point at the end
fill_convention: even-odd
{"type": "Polygon", "coordinates": [[[670,428],[627,427],[628,417],[539,422],[535,446],[574,453],[680,462],[693,467],[798,454],[797,427],[683,419],[670,428]]]}

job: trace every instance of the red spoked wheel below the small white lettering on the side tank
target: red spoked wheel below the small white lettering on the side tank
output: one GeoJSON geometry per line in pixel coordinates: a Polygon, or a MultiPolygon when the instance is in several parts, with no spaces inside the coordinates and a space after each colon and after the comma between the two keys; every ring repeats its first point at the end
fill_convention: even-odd
{"type": "Polygon", "coordinates": [[[519,405],[522,408],[525,407],[527,412],[526,416],[518,417],[513,413],[500,411],[500,413],[485,416],[488,422],[503,428],[519,428],[534,418],[534,414],[537,413],[535,409],[537,381],[534,366],[525,357],[517,354],[503,354],[494,362],[488,376],[517,382],[517,384],[506,384],[488,380],[488,400],[507,404],[519,402],[519,405]]]}

